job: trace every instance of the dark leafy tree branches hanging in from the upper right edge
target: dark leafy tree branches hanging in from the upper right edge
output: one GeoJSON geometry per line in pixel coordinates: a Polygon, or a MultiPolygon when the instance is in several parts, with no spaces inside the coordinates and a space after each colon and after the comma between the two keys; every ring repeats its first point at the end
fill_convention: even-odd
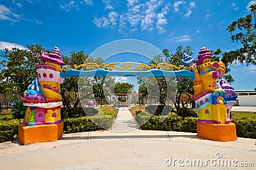
{"type": "Polygon", "coordinates": [[[232,63],[238,60],[241,64],[256,65],[256,4],[249,6],[250,14],[228,25],[226,31],[230,32],[231,40],[234,43],[241,43],[242,48],[225,52],[223,57],[227,62],[232,63]]]}

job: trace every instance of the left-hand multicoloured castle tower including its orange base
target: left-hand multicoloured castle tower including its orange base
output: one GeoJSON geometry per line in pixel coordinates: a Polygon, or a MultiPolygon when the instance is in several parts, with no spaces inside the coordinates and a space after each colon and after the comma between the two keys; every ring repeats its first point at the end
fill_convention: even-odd
{"type": "Polygon", "coordinates": [[[60,50],[55,47],[51,53],[41,54],[44,65],[38,65],[38,78],[35,78],[24,92],[22,102],[27,107],[23,124],[19,126],[19,141],[27,145],[44,141],[56,141],[61,138],[60,77],[64,65],[60,50]]]}

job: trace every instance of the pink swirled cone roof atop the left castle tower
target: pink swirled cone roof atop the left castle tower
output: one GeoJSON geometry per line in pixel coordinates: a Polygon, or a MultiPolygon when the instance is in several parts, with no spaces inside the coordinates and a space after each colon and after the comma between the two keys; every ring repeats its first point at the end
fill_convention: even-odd
{"type": "Polygon", "coordinates": [[[42,52],[41,58],[44,62],[52,62],[54,64],[58,64],[60,66],[64,65],[65,63],[61,59],[60,50],[57,46],[55,46],[55,49],[52,50],[51,53],[42,52]]]}

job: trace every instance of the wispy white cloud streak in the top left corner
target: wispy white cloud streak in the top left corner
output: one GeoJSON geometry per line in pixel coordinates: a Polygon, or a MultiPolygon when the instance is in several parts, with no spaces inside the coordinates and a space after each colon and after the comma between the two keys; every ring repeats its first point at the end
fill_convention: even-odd
{"type": "Polygon", "coordinates": [[[10,20],[12,22],[19,22],[22,15],[14,13],[11,8],[7,8],[3,4],[0,4],[0,20],[10,20]]]}

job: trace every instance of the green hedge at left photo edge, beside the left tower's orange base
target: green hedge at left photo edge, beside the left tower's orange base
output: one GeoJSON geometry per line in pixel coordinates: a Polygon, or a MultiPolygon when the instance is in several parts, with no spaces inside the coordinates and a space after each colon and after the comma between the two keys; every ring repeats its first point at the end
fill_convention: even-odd
{"type": "Polygon", "coordinates": [[[0,122],[0,142],[12,141],[18,134],[18,124],[0,122]]]}

